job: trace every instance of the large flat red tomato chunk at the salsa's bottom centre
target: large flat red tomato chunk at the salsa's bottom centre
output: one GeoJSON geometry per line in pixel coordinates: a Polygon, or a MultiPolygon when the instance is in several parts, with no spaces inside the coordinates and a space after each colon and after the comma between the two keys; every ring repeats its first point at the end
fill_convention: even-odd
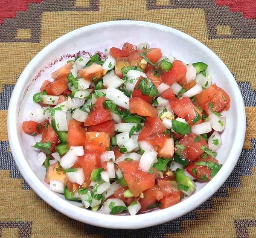
{"type": "Polygon", "coordinates": [[[122,171],[128,188],[138,197],[139,194],[154,186],[155,170],[153,174],[148,174],[139,168],[139,161],[122,161],[119,162],[119,168],[122,171]]]}

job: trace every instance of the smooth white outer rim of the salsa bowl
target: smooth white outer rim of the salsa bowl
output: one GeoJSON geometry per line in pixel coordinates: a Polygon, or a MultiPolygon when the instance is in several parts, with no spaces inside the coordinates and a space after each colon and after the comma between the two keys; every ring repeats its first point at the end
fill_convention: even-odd
{"type": "Polygon", "coordinates": [[[35,55],[35,57],[29,62],[29,64],[20,74],[20,77],[18,78],[14,90],[12,92],[7,115],[9,145],[15,163],[18,169],[20,170],[20,173],[22,174],[24,180],[26,180],[26,182],[38,194],[38,196],[40,196],[50,206],[52,206],[53,208],[63,213],[64,215],[67,215],[70,218],[90,225],[113,229],[139,229],[148,226],[158,225],[160,223],[165,223],[167,221],[179,218],[180,216],[185,215],[186,213],[192,211],[193,209],[197,208],[202,203],[204,203],[221,187],[221,185],[227,180],[227,178],[233,171],[233,168],[235,167],[242,150],[245,129],[245,107],[239,87],[230,70],[227,68],[224,62],[222,62],[221,59],[214,52],[212,52],[211,49],[209,49],[207,46],[205,46],[203,43],[196,40],[192,36],[189,36],[186,33],[183,33],[177,29],[173,29],[168,26],[163,26],[157,23],[135,20],[116,20],[84,26],[57,38],[55,41],[52,41],[52,43],[45,46],[40,52],[38,52],[37,55],[35,55]],[[44,55],[47,55],[51,49],[54,49],[54,46],[56,44],[66,41],[68,38],[72,38],[73,34],[79,34],[80,31],[90,31],[92,29],[113,25],[139,25],[144,27],[150,26],[160,30],[172,32],[178,35],[179,37],[186,38],[189,41],[192,41],[194,44],[197,44],[201,48],[207,50],[209,55],[219,62],[219,67],[221,67],[221,70],[225,72],[225,78],[227,78],[227,80],[233,81],[232,90],[236,94],[236,116],[239,116],[239,127],[236,128],[237,133],[236,136],[233,138],[234,142],[230,150],[230,154],[227,157],[226,162],[222,166],[222,169],[211,181],[207,183],[206,186],[200,189],[194,196],[189,197],[180,203],[177,203],[175,206],[171,206],[163,210],[157,210],[154,211],[153,213],[149,212],[139,214],[136,215],[135,217],[130,215],[120,216],[99,214],[88,209],[81,209],[80,207],[77,207],[69,203],[67,200],[58,197],[58,195],[56,195],[54,192],[50,191],[46,186],[44,186],[44,184],[38,179],[38,177],[36,177],[32,169],[30,168],[29,164],[26,162],[21,146],[19,144],[17,132],[17,102],[19,100],[20,93],[22,92],[21,89],[23,89],[23,87],[26,85],[26,75],[28,75],[28,72],[32,71],[34,65],[37,64],[40,58],[44,55]],[[12,108],[12,110],[10,110],[10,108],[12,108]],[[152,214],[154,214],[154,219],[150,219],[152,214]]]}

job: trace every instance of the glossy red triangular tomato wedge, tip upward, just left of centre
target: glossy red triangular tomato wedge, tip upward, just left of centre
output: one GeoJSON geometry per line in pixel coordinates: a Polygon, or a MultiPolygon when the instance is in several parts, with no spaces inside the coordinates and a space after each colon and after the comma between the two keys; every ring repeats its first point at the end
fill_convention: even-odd
{"type": "Polygon", "coordinates": [[[85,126],[97,125],[112,119],[110,110],[105,109],[103,106],[105,100],[106,98],[104,97],[99,97],[97,99],[95,106],[92,107],[87,119],[84,122],[85,126]]]}

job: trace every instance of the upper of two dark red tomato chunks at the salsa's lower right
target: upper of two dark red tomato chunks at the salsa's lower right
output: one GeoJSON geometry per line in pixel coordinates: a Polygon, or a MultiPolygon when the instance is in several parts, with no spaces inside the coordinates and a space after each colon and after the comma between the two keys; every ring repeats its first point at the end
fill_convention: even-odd
{"type": "Polygon", "coordinates": [[[189,162],[196,160],[204,153],[201,149],[203,145],[208,148],[207,142],[195,133],[189,133],[184,136],[180,139],[178,145],[184,145],[185,149],[180,150],[180,148],[175,147],[175,153],[180,152],[180,155],[189,160],[189,162]]]}

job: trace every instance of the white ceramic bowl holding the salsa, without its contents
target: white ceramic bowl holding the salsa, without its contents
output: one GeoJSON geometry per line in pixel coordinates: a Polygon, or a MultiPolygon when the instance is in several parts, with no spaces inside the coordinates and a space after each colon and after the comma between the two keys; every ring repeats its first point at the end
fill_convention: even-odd
{"type": "Polygon", "coordinates": [[[142,21],[112,21],[85,26],[70,32],[46,46],[20,75],[12,93],[8,112],[8,136],[12,154],[29,186],[50,206],[78,221],[95,226],[120,229],[138,229],[178,218],[198,207],[211,197],[227,180],[241,153],[245,134],[244,102],[233,75],[225,64],[207,46],[183,32],[142,21]],[[213,82],[227,91],[230,109],[224,112],[227,123],[221,134],[223,145],[218,160],[223,167],[209,183],[198,183],[197,191],[175,206],[136,216],[104,215],[82,209],[80,203],[64,200],[64,196],[51,192],[44,183],[45,169],[37,168],[37,152],[31,148],[35,138],[24,134],[21,125],[29,120],[28,113],[35,107],[32,95],[39,91],[49,74],[63,65],[77,52],[104,52],[111,46],[121,47],[124,42],[162,49],[163,55],[174,55],[184,63],[203,61],[209,65],[213,82]],[[62,60],[62,61],[61,61],[62,60]]]}

